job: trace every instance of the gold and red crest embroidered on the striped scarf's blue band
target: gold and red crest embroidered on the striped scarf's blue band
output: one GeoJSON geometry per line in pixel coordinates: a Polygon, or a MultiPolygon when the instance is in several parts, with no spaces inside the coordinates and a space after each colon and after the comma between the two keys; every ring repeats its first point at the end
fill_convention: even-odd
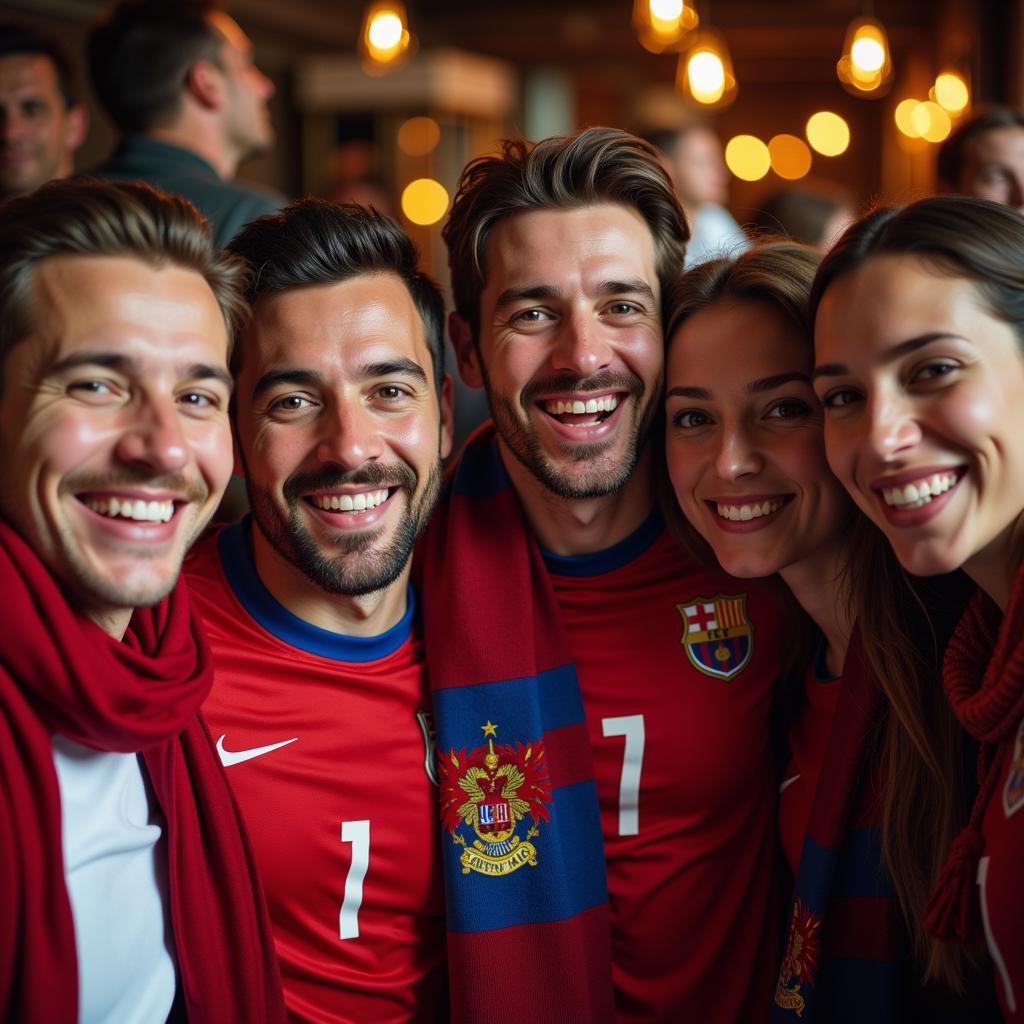
{"type": "Polygon", "coordinates": [[[551,779],[543,742],[497,745],[497,724],[480,728],[486,746],[437,755],[441,822],[463,848],[462,873],[494,878],[537,866],[530,841],[550,819],[551,779]]]}

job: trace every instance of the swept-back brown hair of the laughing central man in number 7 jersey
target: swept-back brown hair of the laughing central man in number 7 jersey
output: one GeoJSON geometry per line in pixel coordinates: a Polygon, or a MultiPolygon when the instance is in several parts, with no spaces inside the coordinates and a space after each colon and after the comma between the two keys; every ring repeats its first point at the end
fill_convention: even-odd
{"type": "Polygon", "coordinates": [[[466,166],[441,232],[449,249],[459,315],[479,334],[485,247],[495,225],[532,210],[572,210],[601,203],[629,207],[654,239],[663,305],[683,265],[689,230],[672,181],[648,143],[615,128],[586,128],[536,145],[506,139],[498,156],[466,166]]]}

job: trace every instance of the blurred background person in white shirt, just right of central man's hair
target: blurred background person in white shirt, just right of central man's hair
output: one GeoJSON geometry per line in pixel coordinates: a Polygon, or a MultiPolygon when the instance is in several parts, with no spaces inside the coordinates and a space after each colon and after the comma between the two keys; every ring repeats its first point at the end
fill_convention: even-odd
{"type": "Polygon", "coordinates": [[[738,256],[749,246],[742,228],[726,209],[729,169],[718,135],[694,121],[675,131],[652,132],[647,140],[662,155],[662,162],[676,186],[686,214],[690,241],[687,267],[713,256],[738,256]]]}

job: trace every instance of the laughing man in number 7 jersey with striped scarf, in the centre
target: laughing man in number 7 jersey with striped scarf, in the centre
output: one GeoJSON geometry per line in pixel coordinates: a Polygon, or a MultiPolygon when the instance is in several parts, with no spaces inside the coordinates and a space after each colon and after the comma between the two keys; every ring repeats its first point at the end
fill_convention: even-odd
{"type": "MultiPolygon", "coordinates": [[[[507,142],[444,238],[459,369],[494,415],[422,553],[453,975],[515,963],[534,1019],[756,1020],[778,616],[656,511],[671,182],[611,129],[507,142]]],[[[502,998],[475,986],[457,1017],[502,998]]]]}

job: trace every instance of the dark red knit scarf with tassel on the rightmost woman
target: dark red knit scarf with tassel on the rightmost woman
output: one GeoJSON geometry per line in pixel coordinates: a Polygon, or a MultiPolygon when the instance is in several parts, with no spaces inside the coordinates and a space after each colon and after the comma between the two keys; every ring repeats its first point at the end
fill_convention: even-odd
{"type": "Polygon", "coordinates": [[[938,939],[973,942],[981,934],[974,885],[984,848],[981,819],[998,777],[999,746],[1024,717],[1024,566],[1005,615],[984,591],[975,595],[946,648],[942,683],[956,718],[982,745],[971,819],[953,842],[925,926],[938,939]]]}

